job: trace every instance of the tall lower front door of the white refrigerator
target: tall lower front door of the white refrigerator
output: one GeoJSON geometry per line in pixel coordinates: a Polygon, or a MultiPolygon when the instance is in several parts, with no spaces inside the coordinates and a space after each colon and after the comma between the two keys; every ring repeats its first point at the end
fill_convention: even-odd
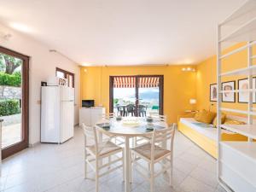
{"type": "Polygon", "coordinates": [[[73,137],[74,106],[73,102],[61,102],[61,143],[73,137]]]}

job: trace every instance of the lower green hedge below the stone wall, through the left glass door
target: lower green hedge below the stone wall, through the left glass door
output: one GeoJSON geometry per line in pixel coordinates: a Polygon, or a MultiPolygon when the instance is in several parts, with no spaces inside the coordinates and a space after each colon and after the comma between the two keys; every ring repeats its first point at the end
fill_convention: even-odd
{"type": "Polygon", "coordinates": [[[0,100],[0,116],[20,113],[20,101],[15,99],[0,100]]]}

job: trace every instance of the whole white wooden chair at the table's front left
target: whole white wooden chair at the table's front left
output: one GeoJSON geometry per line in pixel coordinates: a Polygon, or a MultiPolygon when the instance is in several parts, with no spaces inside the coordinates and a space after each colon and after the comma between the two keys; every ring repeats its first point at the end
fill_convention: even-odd
{"type": "MultiPolygon", "coordinates": [[[[113,172],[120,167],[123,167],[124,172],[124,152],[123,148],[120,148],[114,143],[111,143],[109,139],[98,142],[98,137],[96,134],[96,127],[89,127],[82,124],[84,130],[84,178],[87,177],[87,166],[95,172],[95,180],[96,180],[96,192],[99,191],[99,178],[107,175],[110,172],[113,172]],[[87,137],[89,137],[92,141],[91,144],[88,144],[87,137]],[[121,153],[122,156],[119,157],[117,154],[121,153]],[[111,156],[115,156],[114,160],[111,160],[111,156]],[[108,163],[102,164],[104,158],[108,157],[108,163]],[[119,164],[121,162],[121,165],[119,164]],[[111,168],[111,165],[114,165],[111,168]],[[107,171],[104,170],[107,169],[107,171]],[[105,172],[103,172],[105,171],[105,172]]],[[[93,178],[90,178],[93,179],[93,178]]],[[[124,179],[124,178],[123,178],[124,179]]]]}

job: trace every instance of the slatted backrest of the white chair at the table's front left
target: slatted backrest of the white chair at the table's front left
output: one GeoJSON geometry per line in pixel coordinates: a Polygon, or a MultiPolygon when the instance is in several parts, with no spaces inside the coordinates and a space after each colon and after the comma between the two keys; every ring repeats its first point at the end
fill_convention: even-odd
{"type": "Polygon", "coordinates": [[[84,131],[84,146],[87,146],[87,138],[90,138],[93,141],[92,145],[94,145],[96,148],[96,154],[98,154],[98,138],[96,134],[96,127],[87,126],[83,123],[82,128],[84,131]]]}

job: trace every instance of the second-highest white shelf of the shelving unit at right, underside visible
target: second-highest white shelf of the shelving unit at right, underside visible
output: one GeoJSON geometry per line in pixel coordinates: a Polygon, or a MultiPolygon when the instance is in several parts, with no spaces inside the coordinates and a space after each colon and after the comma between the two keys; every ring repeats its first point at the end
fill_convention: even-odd
{"type": "Polygon", "coordinates": [[[252,20],[248,20],[243,25],[239,26],[230,34],[220,39],[220,43],[223,42],[242,42],[242,41],[254,41],[256,39],[256,17],[252,20]]]}

